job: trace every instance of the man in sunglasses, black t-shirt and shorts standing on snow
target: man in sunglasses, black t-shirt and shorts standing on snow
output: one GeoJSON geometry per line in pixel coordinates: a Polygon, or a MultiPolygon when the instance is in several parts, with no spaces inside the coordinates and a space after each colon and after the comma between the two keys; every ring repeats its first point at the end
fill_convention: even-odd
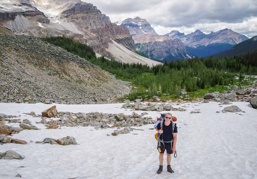
{"type": "Polygon", "coordinates": [[[170,161],[171,161],[171,154],[176,151],[178,127],[176,124],[173,125],[172,114],[167,113],[165,115],[163,122],[160,122],[157,125],[157,127],[155,127],[155,130],[158,133],[160,133],[158,146],[157,146],[157,149],[160,148],[159,150],[160,166],[159,166],[159,169],[157,170],[157,173],[160,174],[162,172],[163,155],[165,150],[167,153],[167,171],[170,173],[174,173],[174,171],[170,167],[170,161]],[[174,126],[174,129],[173,129],[173,126],[174,126]]]}

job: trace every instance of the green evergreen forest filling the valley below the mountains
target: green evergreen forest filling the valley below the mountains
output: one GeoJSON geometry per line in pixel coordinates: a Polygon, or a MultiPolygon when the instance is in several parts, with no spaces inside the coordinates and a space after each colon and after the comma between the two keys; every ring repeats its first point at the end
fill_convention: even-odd
{"type": "Polygon", "coordinates": [[[116,74],[119,79],[131,81],[139,86],[138,90],[132,91],[137,93],[136,96],[145,95],[147,90],[152,95],[178,94],[181,89],[193,92],[215,85],[233,84],[235,76],[243,79],[244,74],[257,75],[257,50],[232,58],[196,57],[149,67],[109,60],[103,56],[97,58],[91,47],[64,36],[41,39],[79,55],[101,69],[116,74]]]}

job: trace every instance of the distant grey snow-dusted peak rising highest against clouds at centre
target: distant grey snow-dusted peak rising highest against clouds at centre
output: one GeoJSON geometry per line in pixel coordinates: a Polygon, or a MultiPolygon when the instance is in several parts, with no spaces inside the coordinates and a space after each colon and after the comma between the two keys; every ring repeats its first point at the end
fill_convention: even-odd
{"type": "Polygon", "coordinates": [[[158,35],[151,27],[146,19],[141,19],[139,16],[129,17],[115,22],[119,26],[128,28],[129,33],[134,36],[136,34],[153,34],[158,35]]]}

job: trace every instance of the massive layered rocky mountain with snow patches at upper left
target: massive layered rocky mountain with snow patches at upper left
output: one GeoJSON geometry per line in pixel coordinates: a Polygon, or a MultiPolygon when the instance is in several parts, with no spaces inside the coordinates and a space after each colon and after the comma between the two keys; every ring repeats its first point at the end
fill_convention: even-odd
{"type": "Polygon", "coordinates": [[[128,29],[111,23],[108,16],[90,3],[80,0],[10,0],[0,1],[0,5],[0,25],[15,34],[35,37],[65,34],[106,55],[105,49],[112,43],[111,39],[134,48],[128,29]]]}

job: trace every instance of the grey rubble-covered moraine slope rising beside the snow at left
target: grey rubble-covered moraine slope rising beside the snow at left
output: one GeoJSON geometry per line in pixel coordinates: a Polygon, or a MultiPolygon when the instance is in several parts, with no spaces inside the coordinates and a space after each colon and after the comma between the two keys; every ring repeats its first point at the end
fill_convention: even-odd
{"type": "Polygon", "coordinates": [[[130,91],[85,59],[25,35],[0,34],[0,81],[1,102],[105,103],[130,91]]]}

